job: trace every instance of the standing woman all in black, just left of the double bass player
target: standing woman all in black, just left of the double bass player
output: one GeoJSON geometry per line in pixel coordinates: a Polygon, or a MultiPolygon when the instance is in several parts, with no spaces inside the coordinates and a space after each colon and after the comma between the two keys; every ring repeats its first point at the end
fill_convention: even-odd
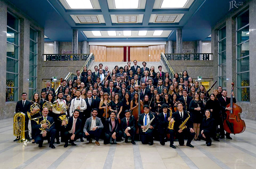
{"type": "Polygon", "coordinates": [[[223,125],[223,122],[220,116],[220,112],[221,112],[220,102],[218,101],[218,99],[215,97],[213,93],[210,94],[210,99],[206,102],[205,109],[210,110],[211,116],[215,120],[215,126],[213,128],[213,131],[215,134],[213,135],[213,140],[218,141],[218,139],[216,138],[217,126],[223,125]]]}

